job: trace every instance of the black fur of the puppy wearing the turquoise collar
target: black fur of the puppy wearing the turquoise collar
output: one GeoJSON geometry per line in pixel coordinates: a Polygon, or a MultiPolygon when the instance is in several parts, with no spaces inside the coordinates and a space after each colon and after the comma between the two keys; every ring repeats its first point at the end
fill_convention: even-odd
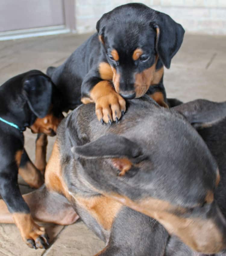
{"type": "MultiPolygon", "coordinates": [[[[55,90],[51,79],[37,70],[17,75],[0,87],[0,117],[20,127],[17,130],[0,121],[0,195],[11,213],[30,212],[19,190],[15,157],[18,151],[24,149],[22,131],[31,126],[37,117],[46,116],[53,104],[55,90]]],[[[22,166],[30,161],[25,151],[21,159],[22,166]]]]}

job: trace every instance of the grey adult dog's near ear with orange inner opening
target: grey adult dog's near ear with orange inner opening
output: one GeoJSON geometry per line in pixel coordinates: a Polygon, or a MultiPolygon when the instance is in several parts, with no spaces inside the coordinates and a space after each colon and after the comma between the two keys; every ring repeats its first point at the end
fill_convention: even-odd
{"type": "Polygon", "coordinates": [[[111,159],[112,165],[121,171],[119,175],[124,175],[133,164],[147,158],[137,143],[115,134],[101,136],[83,146],[75,146],[71,150],[77,159],[79,157],[111,159]]]}

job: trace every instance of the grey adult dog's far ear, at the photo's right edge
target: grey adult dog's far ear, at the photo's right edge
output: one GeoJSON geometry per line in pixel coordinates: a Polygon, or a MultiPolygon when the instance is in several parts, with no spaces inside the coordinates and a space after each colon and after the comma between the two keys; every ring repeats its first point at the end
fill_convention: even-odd
{"type": "Polygon", "coordinates": [[[197,130],[210,127],[226,118],[226,101],[194,100],[172,109],[186,117],[197,130]]]}

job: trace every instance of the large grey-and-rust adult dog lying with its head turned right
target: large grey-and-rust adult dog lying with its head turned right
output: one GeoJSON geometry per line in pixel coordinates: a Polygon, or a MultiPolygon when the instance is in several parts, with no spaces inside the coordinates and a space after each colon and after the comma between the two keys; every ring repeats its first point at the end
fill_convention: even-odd
{"type": "MultiPolygon", "coordinates": [[[[213,115],[205,120],[200,113],[196,123],[219,120],[223,107],[213,103],[213,115]]],[[[96,120],[92,104],[61,122],[45,186],[24,196],[33,217],[70,224],[77,212],[106,241],[97,255],[162,256],[166,230],[196,251],[226,248],[225,220],[213,198],[218,167],[202,138],[182,115],[148,97],[127,109],[112,126],[96,120]]],[[[13,222],[0,206],[1,222],[13,222]]]]}

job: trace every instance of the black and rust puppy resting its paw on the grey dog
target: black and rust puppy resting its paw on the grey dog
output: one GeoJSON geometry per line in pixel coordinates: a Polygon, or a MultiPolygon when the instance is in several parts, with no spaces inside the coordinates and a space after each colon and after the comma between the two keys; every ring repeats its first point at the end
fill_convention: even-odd
{"type": "Polygon", "coordinates": [[[61,66],[47,74],[61,90],[63,110],[95,102],[99,121],[112,123],[126,110],[124,99],[149,94],[167,107],[163,66],[169,68],[184,29],[168,15],[146,5],[119,6],[104,14],[97,33],[61,66]]]}

